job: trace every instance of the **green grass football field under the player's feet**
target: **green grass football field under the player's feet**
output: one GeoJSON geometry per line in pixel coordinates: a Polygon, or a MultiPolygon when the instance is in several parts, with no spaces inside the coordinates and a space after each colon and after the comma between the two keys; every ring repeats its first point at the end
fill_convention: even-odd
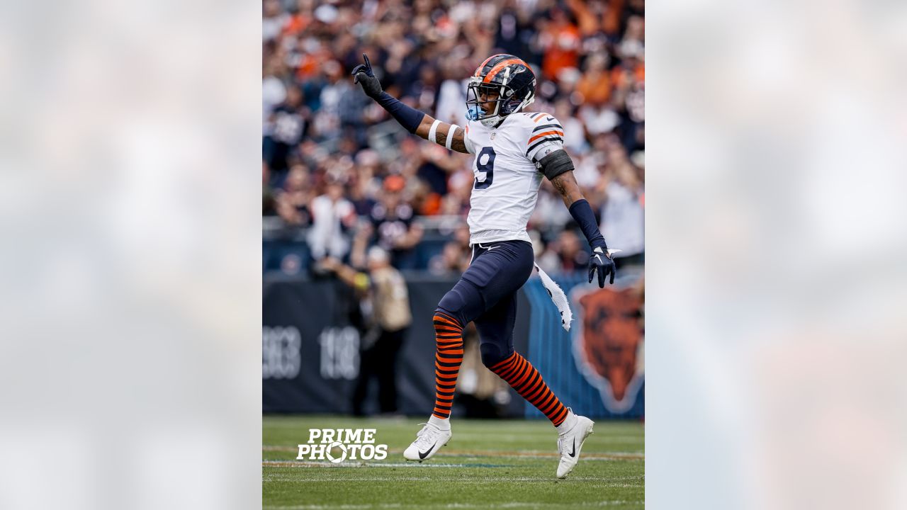
{"type": "MultiPolygon", "coordinates": [[[[580,464],[565,480],[551,423],[453,419],[450,443],[422,464],[403,450],[421,428],[417,418],[264,417],[263,507],[359,508],[643,508],[643,425],[598,420],[580,464]],[[309,428],[375,428],[385,460],[296,460],[309,428]]],[[[339,455],[339,453],[338,453],[339,455]]]]}

